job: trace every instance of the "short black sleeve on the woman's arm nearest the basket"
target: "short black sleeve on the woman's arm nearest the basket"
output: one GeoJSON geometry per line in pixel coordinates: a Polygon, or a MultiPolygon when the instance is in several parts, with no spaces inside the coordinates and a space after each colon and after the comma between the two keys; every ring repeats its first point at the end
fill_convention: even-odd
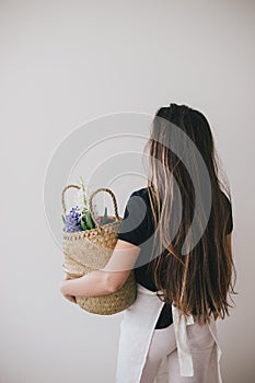
{"type": "Polygon", "coordinates": [[[137,192],[134,192],[126,205],[117,239],[141,246],[150,236],[148,227],[148,205],[137,192]]]}

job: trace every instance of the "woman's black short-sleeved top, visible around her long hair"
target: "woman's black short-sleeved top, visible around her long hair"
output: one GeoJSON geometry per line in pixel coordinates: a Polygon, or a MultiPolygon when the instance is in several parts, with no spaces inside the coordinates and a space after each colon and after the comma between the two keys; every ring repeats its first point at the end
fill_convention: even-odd
{"type": "MultiPolygon", "coordinates": [[[[228,204],[230,211],[230,218],[228,221],[227,234],[233,230],[232,207],[229,198],[222,192],[225,197],[224,200],[228,204]]],[[[208,221],[208,230],[211,228],[211,216],[208,221]]],[[[147,272],[149,263],[148,256],[150,256],[150,249],[152,248],[154,233],[154,225],[152,220],[152,211],[150,207],[148,188],[143,187],[139,190],[135,190],[127,201],[124,219],[120,223],[117,237],[123,241],[130,242],[141,248],[138,259],[135,264],[134,271],[136,281],[151,291],[157,291],[157,288],[152,281],[150,272],[147,272]],[[127,219],[128,218],[128,219],[127,219]]],[[[154,328],[165,328],[173,323],[171,304],[165,303],[162,307],[160,317],[154,328]]]]}

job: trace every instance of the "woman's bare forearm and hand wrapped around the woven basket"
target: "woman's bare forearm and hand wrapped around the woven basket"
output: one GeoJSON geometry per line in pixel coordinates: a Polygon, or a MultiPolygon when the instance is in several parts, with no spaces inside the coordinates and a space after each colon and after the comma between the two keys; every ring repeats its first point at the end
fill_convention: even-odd
{"type": "Polygon", "coordinates": [[[103,269],[60,282],[62,294],[97,297],[117,291],[127,280],[140,253],[140,247],[118,240],[112,257],[103,269]]]}

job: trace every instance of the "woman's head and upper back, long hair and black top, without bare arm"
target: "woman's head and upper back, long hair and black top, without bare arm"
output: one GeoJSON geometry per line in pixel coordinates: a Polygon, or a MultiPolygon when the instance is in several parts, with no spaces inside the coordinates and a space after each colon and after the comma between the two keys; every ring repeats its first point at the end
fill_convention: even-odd
{"type": "Polygon", "coordinates": [[[231,198],[221,189],[206,117],[185,105],[158,111],[151,126],[148,186],[134,192],[118,237],[140,247],[137,281],[200,323],[228,314],[235,272],[227,235],[231,198]]]}

